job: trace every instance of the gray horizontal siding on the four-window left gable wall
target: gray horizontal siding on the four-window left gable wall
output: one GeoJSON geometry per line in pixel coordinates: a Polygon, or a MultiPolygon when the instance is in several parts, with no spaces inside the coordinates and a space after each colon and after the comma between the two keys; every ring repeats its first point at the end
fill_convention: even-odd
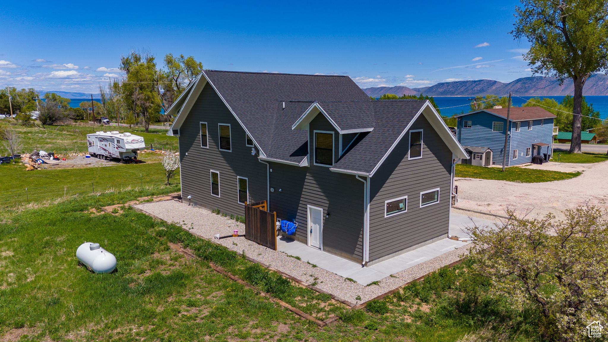
{"type": "Polygon", "coordinates": [[[206,208],[244,215],[238,203],[237,176],[248,179],[249,200],[266,200],[266,165],[251,155],[245,131],[207,83],[180,128],[182,197],[206,208]],[[199,122],[207,122],[209,148],[201,147],[199,122]],[[219,150],[218,124],[230,124],[232,152],[219,150]],[[186,155],[187,153],[187,155],[186,155]],[[211,194],[210,170],[219,172],[220,197],[211,194]]]}

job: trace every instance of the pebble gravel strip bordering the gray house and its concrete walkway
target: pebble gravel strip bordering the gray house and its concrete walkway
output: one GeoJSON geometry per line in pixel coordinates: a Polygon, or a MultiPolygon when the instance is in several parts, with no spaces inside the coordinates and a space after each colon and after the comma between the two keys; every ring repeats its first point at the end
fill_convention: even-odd
{"type": "Polygon", "coordinates": [[[215,234],[219,234],[220,236],[229,235],[232,234],[234,229],[238,229],[239,234],[244,234],[245,225],[231,220],[229,217],[213,214],[205,208],[188,206],[178,201],[142,203],[134,205],[134,208],[155,218],[182,226],[182,228],[187,229],[196,236],[210,239],[210,241],[226,246],[230,250],[238,253],[244,252],[250,258],[289,274],[306,284],[313,284],[316,281],[316,287],[353,304],[359,304],[376,298],[418,277],[460,260],[462,254],[468,254],[468,251],[464,248],[453,250],[414,267],[407,268],[407,270],[392,274],[390,277],[385,277],[379,281],[379,285],[366,287],[365,284],[346,281],[344,277],[323,270],[320,267],[313,268],[306,263],[306,260],[288,257],[285,253],[270,250],[255,242],[246,240],[244,237],[231,237],[221,240],[213,239],[215,234]],[[361,296],[361,300],[358,301],[356,299],[357,296],[361,296]]]}

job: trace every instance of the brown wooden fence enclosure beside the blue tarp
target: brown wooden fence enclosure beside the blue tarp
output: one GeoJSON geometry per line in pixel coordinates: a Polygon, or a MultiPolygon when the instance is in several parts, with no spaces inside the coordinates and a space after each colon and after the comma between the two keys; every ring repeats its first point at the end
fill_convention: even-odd
{"type": "Polygon", "coordinates": [[[266,201],[245,206],[245,239],[277,250],[277,213],[266,211],[266,201]]]}

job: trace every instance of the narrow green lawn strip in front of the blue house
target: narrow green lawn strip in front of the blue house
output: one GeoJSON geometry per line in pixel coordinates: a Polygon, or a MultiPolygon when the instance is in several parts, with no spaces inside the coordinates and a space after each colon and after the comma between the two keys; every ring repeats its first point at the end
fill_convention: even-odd
{"type": "Polygon", "coordinates": [[[482,178],[484,180],[499,180],[521,183],[541,183],[549,181],[568,180],[581,175],[580,172],[558,172],[549,170],[523,169],[507,167],[502,172],[500,167],[483,167],[466,164],[456,164],[457,177],[482,178]]]}

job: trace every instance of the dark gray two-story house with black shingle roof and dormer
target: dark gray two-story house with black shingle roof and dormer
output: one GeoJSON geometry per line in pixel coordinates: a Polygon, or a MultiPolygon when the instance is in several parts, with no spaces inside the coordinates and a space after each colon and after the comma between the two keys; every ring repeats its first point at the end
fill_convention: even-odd
{"type": "Polygon", "coordinates": [[[364,265],[447,237],[465,151],[426,100],[370,100],[341,75],[204,71],[168,114],[184,203],[266,200],[293,239],[364,265]]]}

